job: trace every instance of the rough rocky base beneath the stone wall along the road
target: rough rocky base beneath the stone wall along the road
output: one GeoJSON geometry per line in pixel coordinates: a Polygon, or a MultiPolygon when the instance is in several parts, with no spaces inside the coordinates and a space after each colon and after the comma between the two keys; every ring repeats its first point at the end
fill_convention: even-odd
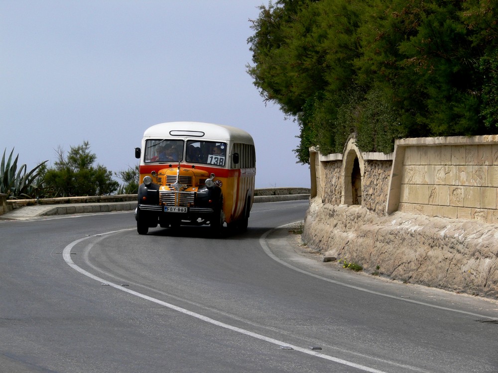
{"type": "Polygon", "coordinates": [[[498,227],[476,220],[322,204],[314,198],[302,240],[324,255],[347,259],[392,279],[498,297],[498,227]]]}

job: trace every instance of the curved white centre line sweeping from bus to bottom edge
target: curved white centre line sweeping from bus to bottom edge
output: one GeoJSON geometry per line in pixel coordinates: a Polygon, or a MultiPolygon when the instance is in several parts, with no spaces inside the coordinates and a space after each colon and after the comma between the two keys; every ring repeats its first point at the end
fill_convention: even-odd
{"type": "MultiPolygon", "coordinates": [[[[109,282],[107,280],[104,280],[98,276],[95,276],[95,275],[92,275],[91,273],[85,271],[84,269],[78,267],[74,262],[73,260],[71,259],[71,249],[76,246],[77,244],[79,244],[80,242],[82,241],[85,241],[89,238],[92,238],[92,237],[95,237],[95,236],[103,236],[103,235],[108,235],[108,234],[112,234],[112,233],[117,233],[117,232],[123,232],[123,231],[127,231],[129,229],[122,229],[122,230],[118,230],[118,231],[112,231],[112,232],[106,232],[106,233],[101,233],[101,234],[98,234],[98,235],[93,235],[93,236],[87,236],[87,237],[83,237],[83,238],[80,238],[79,240],[76,240],[76,241],[73,241],[72,243],[70,243],[69,245],[67,245],[65,248],[64,248],[64,251],[62,253],[62,256],[64,258],[64,261],[71,267],[73,268],[74,270],[78,271],[79,273],[81,273],[82,275],[85,275],[93,280],[96,280],[96,281],[100,281],[102,283],[107,283],[109,284],[110,286],[118,289],[118,290],[121,290],[121,291],[124,291],[124,292],[127,292],[129,294],[132,294],[132,295],[135,295],[135,296],[138,296],[142,299],[145,299],[145,300],[149,300],[151,302],[154,302],[156,304],[159,304],[159,305],[162,305],[164,307],[167,307],[167,308],[170,308],[170,309],[173,309],[175,311],[178,311],[178,312],[181,312],[183,314],[186,314],[186,315],[189,315],[189,316],[193,316],[193,317],[196,317],[198,318],[199,320],[203,320],[203,321],[206,321],[206,322],[209,322],[213,325],[216,325],[216,326],[220,326],[222,328],[225,328],[225,329],[229,329],[229,330],[232,330],[232,331],[235,331],[235,332],[238,332],[238,333],[242,333],[244,335],[247,335],[247,336],[250,336],[250,337],[253,337],[253,338],[257,338],[259,340],[262,340],[262,341],[265,341],[265,342],[269,342],[269,343],[272,343],[272,344],[275,344],[275,345],[278,345],[278,346],[285,346],[285,347],[290,347],[296,351],[299,351],[299,352],[302,352],[304,354],[308,354],[308,355],[311,355],[311,356],[314,356],[314,357],[317,357],[317,358],[321,358],[321,359],[326,359],[326,360],[329,360],[329,361],[332,361],[332,362],[335,362],[335,363],[338,363],[338,364],[342,364],[342,365],[346,365],[348,367],[353,367],[353,368],[356,368],[356,369],[359,369],[361,371],[364,371],[364,372],[371,372],[371,373],[386,373],[386,372],[383,372],[383,371],[379,371],[377,369],[373,369],[373,368],[370,368],[370,367],[366,367],[364,365],[361,365],[361,364],[356,364],[356,363],[353,363],[353,362],[350,362],[350,361],[347,361],[347,360],[343,360],[343,359],[339,359],[339,358],[335,358],[333,356],[329,356],[329,355],[325,355],[325,354],[320,354],[320,353],[316,353],[315,351],[313,350],[310,350],[310,349],[305,349],[305,348],[302,348],[302,347],[299,347],[299,346],[294,346],[294,345],[291,345],[291,344],[288,344],[286,342],[283,342],[283,341],[279,341],[277,339],[273,339],[273,338],[270,338],[270,337],[266,337],[266,336],[263,336],[261,334],[257,334],[257,333],[253,333],[249,330],[246,330],[246,329],[242,329],[242,328],[238,328],[236,326],[233,326],[233,325],[229,325],[229,324],[226,324],[226,323],[223,323],[223,322],[220,322],[220,321],[217,321],[217,320],[214,320],[210,317],[207,317],[207,316],[204,316],[204,315],[201,315],[199,313],[196,313],[196,312],[192,312],[192,311],[189,311],[188,309],[185,309],[185,308],[182,308],[182,307],[178,307],[178,306],[175,306],[174,304],[171,304],[171,303],[167,303],[167,302],[164,302],[162,300],[159,300],[159,299],[156,299],[156,298],[153,298],[151,296],[148,296],[148,295],[145,295],[145,294],[142,294],[142,293],[139,293],[137,291],[133,291],[133,290],[130,290],[126,287],[123,287],[122,285],[118,285],[116,283],[113,283],[113,282],[109,282]]],[[[266,236],[266,234],[265,234],[266,236]]]]}

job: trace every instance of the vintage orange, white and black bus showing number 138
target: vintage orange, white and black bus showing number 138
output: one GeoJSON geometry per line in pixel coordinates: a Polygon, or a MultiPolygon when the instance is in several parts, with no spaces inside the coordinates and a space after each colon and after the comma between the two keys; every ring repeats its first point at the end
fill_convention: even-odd
{"type": "Polygon", "coordinates": [[[254,196],[256,156],[246,131],[201,122],[169,122],[145,130],[135,211],[139,234],[160,225],[226,223],[245,231],[254,196]]]}

